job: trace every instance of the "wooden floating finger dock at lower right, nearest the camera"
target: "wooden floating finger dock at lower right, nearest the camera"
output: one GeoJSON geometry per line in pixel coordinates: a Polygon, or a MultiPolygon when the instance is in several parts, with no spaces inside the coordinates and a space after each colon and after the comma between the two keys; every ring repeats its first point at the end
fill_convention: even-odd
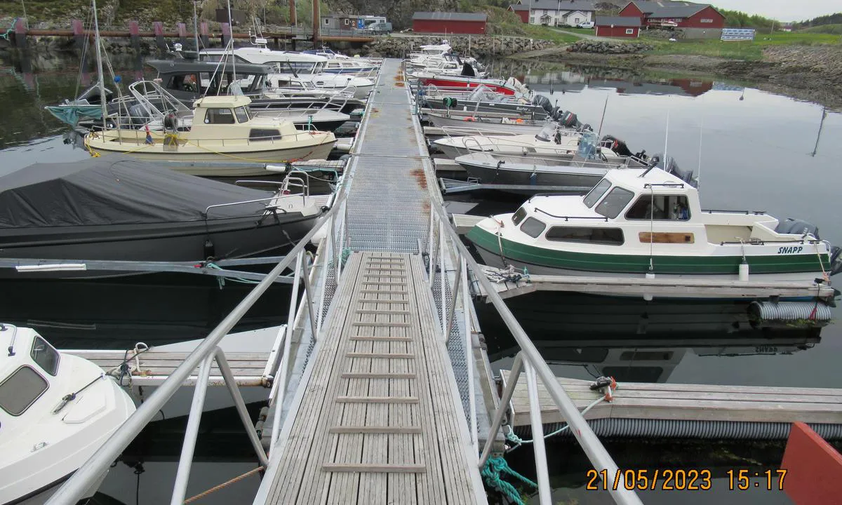
{"type": "MultiPolygon", "coordinates": [[[[509,370],[500,370],[504,381],[509,370]]],[[[600,397],[588,380],[557,378],[579,410],[600,397]]],[[[541,381],[541,423],[562,423],[562,416],[541,381]]],[[[530,424],[529,396],[521,375],[511,405],[514,426],[530,424]]],[[[676,419],[691,421],[743,421],[762,423],[842,423],[842,389],[761,387],[745,385],[649,384],[625,382],[614,401],[602,402],[585,414],[600,418],[676,419]]]]}

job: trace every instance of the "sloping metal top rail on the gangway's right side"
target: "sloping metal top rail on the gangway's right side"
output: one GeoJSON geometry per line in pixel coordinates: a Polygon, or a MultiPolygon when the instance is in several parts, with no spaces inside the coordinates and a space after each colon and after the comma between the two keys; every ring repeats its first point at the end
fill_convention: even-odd
{"type": "MultiPolygon", "coordinates": [[[[482,273],[482,268],[480,268],[477,261],[471,256],[471,253],[468,252],[465,245],[461,242],[459,235],[456,234],[456,231],[452,226],[450,226],[450,221],[447,218],[447,212],[445,209],[436,199],[431,199],[430,207],[439,216],[439,221],[442,224],[446,223],[446,226],[440,226],[440,230],[445,230],[445,232],[450,236],[450,243],[456,247],[456,253],[458,253],[461,258],[465,259],[468,268],[472,270],[474,277],[477,279],[479,284],[482,285],[482,289],[485,290],[488,300],[490,300],[494,308],[497,309],[504,324],[509,328],[514,340],[520,346],[520,354],[523,356],[523,359],[525,359],[525,361],[535,369],[536,375],[541,379],[541,382],[546,387],[546,390],[550,393],[550,396],[555,402],[556,407],[558,407],[562,417],[570,426],[571,433],[573,433],[573,436],[578,440],[582,449],[584,449],[585,455],[588,456],[591,464],[594,465],[594,468],[607,470],[608,475],[615,475],[619,469],[614,459],[611,458],[611,455],[600,442],[600,439],[597,438],[588,422],[578,411],[576,405],[570,399],[570,396],[568,396],[567,391],[564,391],[562,385],[558,383],[556,376],[552,373],[552,369],[550,369],[550,367],[546,364],[546,361],[544,361],[541,357],[541,353],[538,352],[535,344],[532,343],[523,327],[520,326],[517,318],[511,311],[509,311],[509,307],[506,306],[503,298],[501,298],[497,290],[494,289],[491,281],[488,280],[485,274],[482,273]]],[[[505,408],[504,406],[505,404],[501,402],[500,407],[498,407],[498,412],[499,409],[505,408]]],[[[488,445],[493,443],[493,433],[496,432],[489,433],[488,442],[486,443],[487,447],[483,453],[488,451],[488,445]]],[[[546,460],[536,461],[536,465],[546,465],[546,460]]],[[[609,493],[611,497],[614,498],[614,501],[620,503],[621,505],[642,505],[640,498],[637,497],[637,493],[632,490],[627,490],[625,486],[618,486],[616,489],[609,486],[609,493]]]]}

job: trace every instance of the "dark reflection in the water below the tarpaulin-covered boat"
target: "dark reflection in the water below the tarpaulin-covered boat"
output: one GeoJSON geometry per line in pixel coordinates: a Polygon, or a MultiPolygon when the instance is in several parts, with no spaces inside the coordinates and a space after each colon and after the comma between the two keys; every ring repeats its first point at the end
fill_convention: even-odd
{"type": "MultiPolygon", "coordinates": [[[[56,348],[133,348],[207,337],[253,288],[201,275],[115,280],[2,280],[0,321],[34,327],[56,348]]],[[[290,286],[277,284],[232,331],[286,321],[290,286]]]]}

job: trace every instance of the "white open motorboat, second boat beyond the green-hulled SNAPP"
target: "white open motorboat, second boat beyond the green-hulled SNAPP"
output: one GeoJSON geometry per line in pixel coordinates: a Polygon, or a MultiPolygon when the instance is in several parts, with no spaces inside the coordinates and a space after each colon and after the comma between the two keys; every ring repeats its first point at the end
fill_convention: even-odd
{"type": "MultiPolygon", "coordinates": [[[[434,141],[433,146],[451,159],[473,152],[492,152],[509,156],[570,160],[576,156],[579,142],[586,132],[590,132],[590,125],[565,128],[548,122],[537,135],[451,136],[434,141]]],[[[605,161],[619,160],[607,145],[600,143],[596,150],[596,155],[605,161]]]]}

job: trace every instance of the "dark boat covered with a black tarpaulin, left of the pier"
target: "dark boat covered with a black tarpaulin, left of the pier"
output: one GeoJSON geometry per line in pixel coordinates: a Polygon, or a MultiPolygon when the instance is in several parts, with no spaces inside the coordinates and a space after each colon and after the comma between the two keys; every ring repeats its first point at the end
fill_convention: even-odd
{"type": "MultiPolygon", "coordinates": [[[[322,214],[306,174],[277,191],[197,178],[127,157],[38,163],[0,177],[0,258],[200,262],[274,256],[322,214]]],[[[0,277],[94,278],[85,268],[0,268],[0,277]]]]}

